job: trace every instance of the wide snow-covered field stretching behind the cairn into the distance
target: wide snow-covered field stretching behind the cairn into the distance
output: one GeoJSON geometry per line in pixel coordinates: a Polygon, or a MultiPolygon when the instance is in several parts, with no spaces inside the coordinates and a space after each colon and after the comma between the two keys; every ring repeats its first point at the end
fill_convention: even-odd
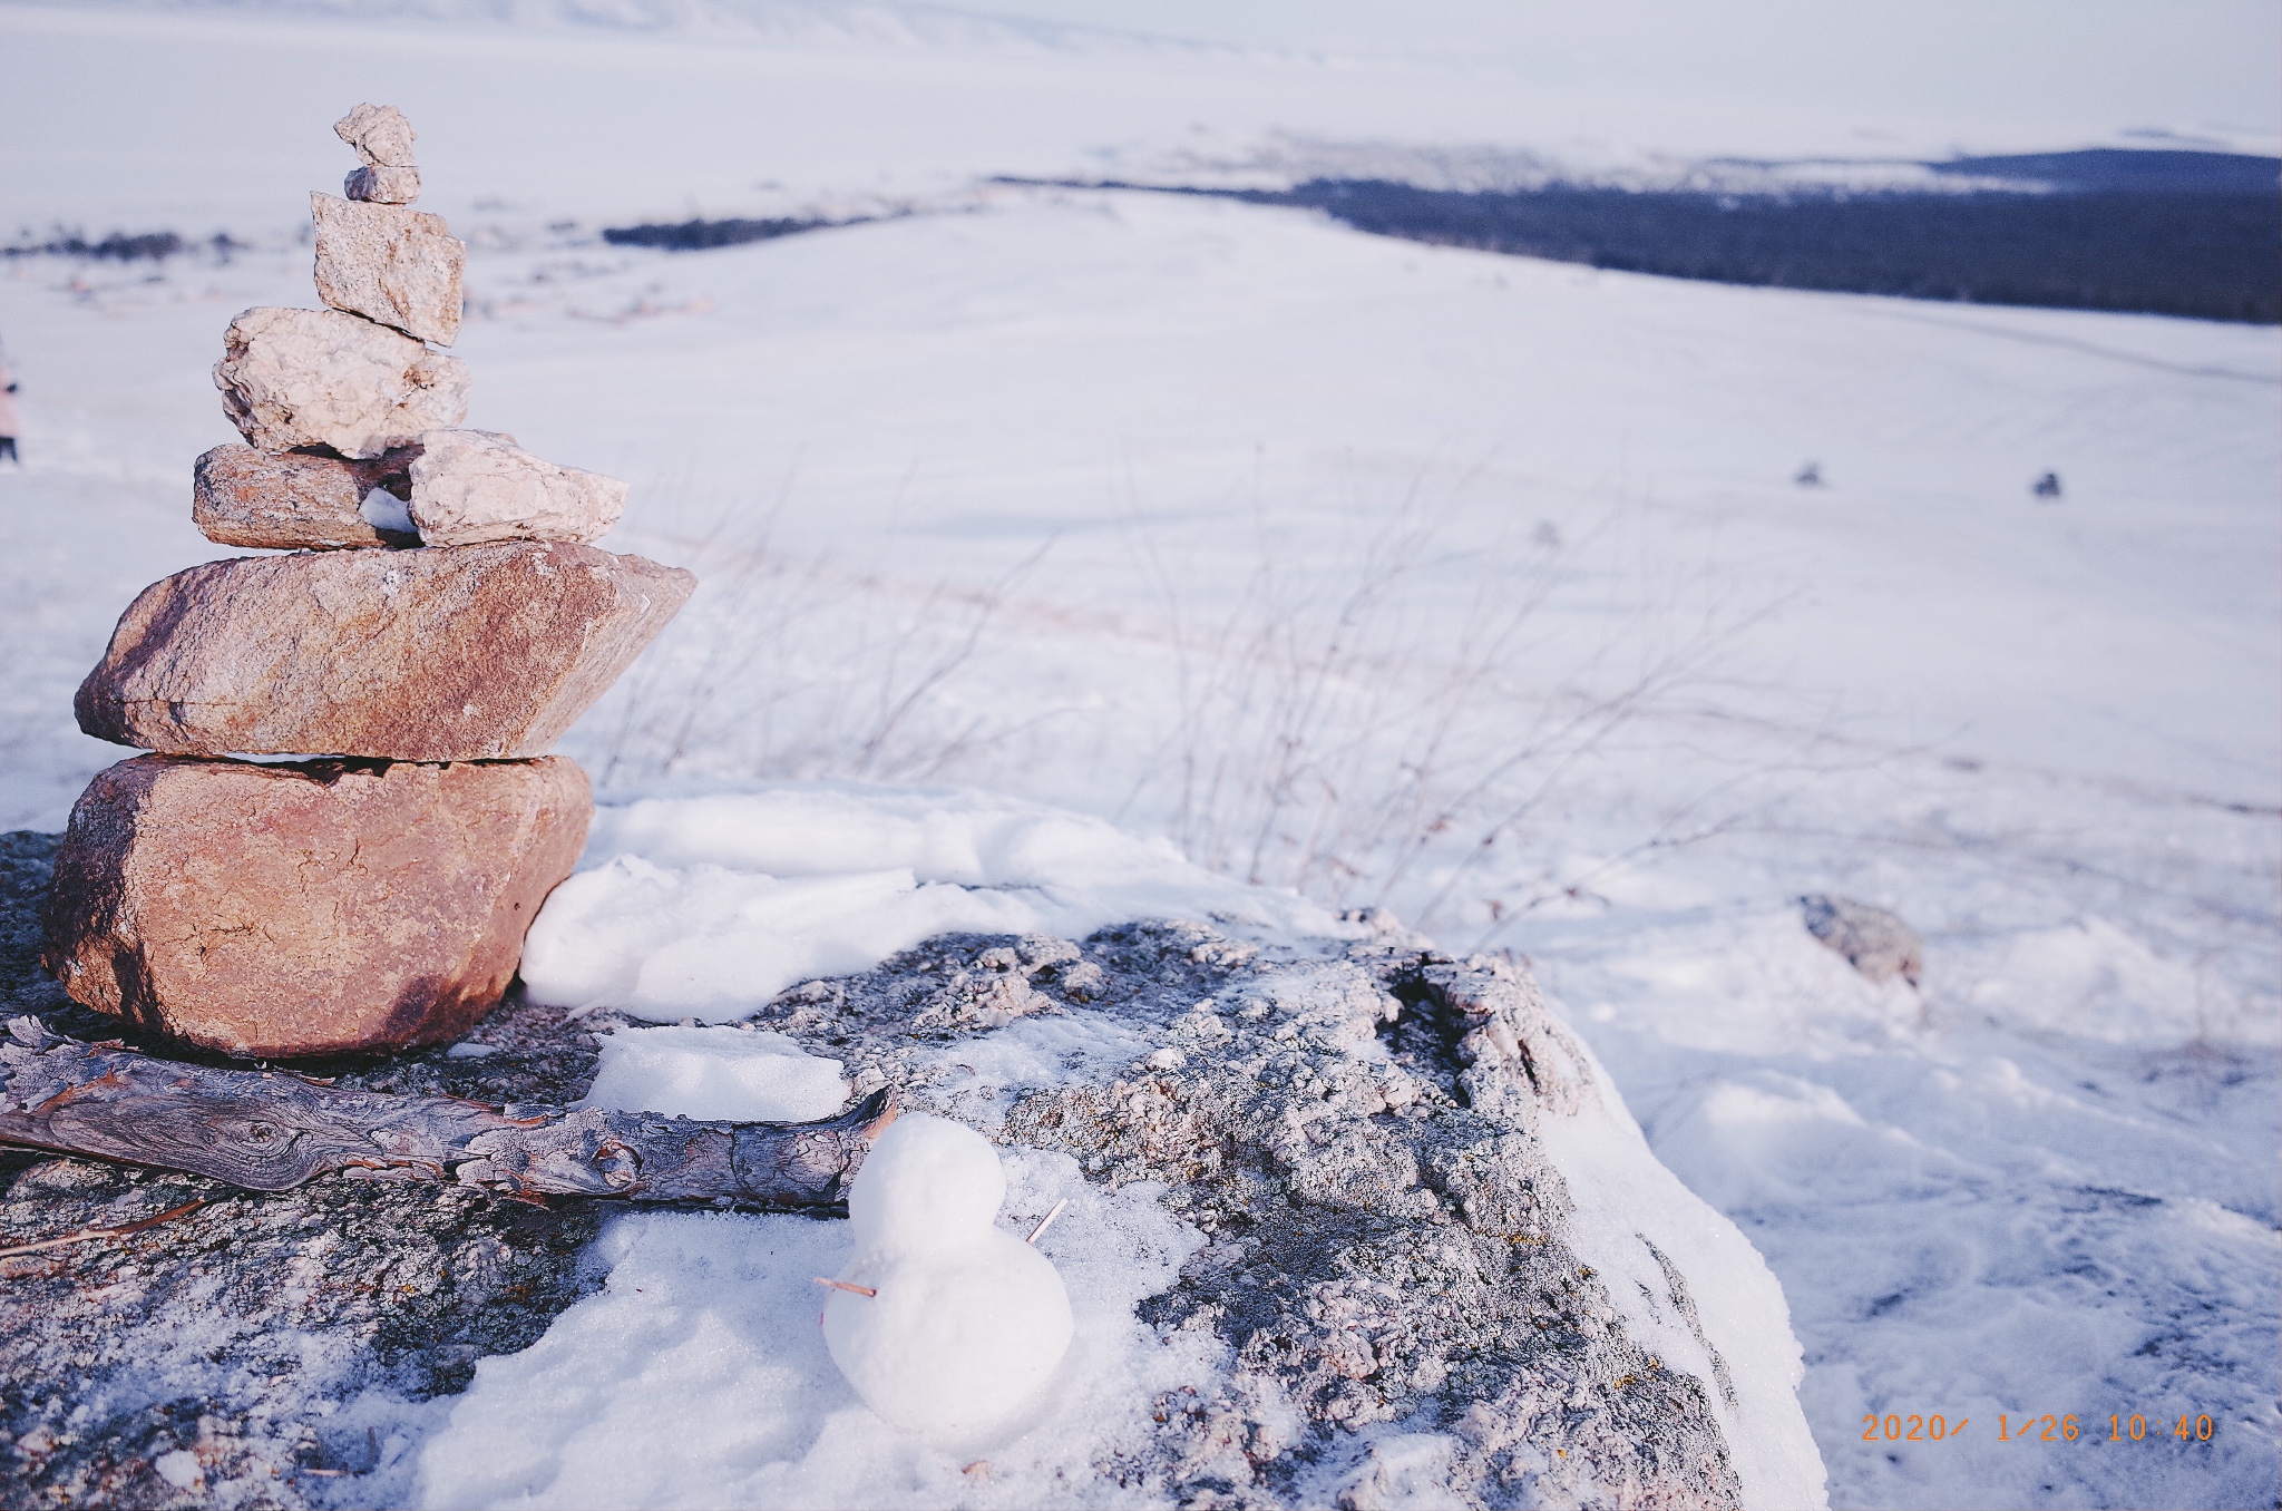
{"type": "MultiPolygon", "coordinates": [[[[25,413],[0,826],[59,829],[121,756],[71,692],[144,582],[226,555],[187,509],[192,456],[235,438],[221,329],[315,304],[292,237],[345,167],[329,123],[388,98],[472,244],[468,422],[630,479],[605,546],[703,580],[566,744],[614,806],[534,936],[559,995],[730,1020],[938,927],[1267,906],[1237,883],[1296,890],[1292,918],[1390,908],[1527,959],[1766,1255],[1830,1504],[2277,1502],[2273,329],[984,183],[1225,167],[1267,132],[1686,142],[1670,103],[1575,126],[1577,96],[1513,107],[1483,68],[888,7],[710,41],[283,11],[0,7],[7,231],[253,244],[0,265],[25,413]],[[596,235],[787,208],[881,219],[596,235]],[[1828,486],[1794,486],[1805,461],[1828,486]],[[2061,502],[2029,495],[2045,470],[2061,502]],[[1009,856],[1009,799],[1073,817],[1009,856]],[[1173,888],[1180,854],[1225,881],[1173,888]],[[1803,892],[1917,924],[1924,991],[1823,952],[1803,892]],[[1885,1413],[1974,1427],[1864,1440],[1885,1413]],[[1999,1413],[2083,1433],[1999,1443],[1999,1413]],[[2163,1431],[2109,1443],[2111,1413],[2163,1431]],[[2214,1438],[2177,1443],[2182,1415],[2214,1438]]],[[[1963,144],[2113,128],[1976,116],[1963,144]]],[[[1807,155],[1848,126],[1707,130],[1807,155]]],[[[1896,151],[1940,130],[1894,123],[1896,151]]],[[[760,1262],[669,1228],[621,1226],[612,1262],[669,1287],[760,1262]]],[[[511,1367],[550,1349],[577,1340],[511,1367]]]]}

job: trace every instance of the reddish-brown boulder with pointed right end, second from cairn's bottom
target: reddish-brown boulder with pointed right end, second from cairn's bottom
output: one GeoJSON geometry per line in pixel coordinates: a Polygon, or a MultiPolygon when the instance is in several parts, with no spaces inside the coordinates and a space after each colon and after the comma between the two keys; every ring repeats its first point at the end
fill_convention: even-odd
{"type": "Polygon", "coordinates": [[[541,756],[694,587],[559,541],[208,561],[135,598],[75,710],[176,756],[541,756]]]}

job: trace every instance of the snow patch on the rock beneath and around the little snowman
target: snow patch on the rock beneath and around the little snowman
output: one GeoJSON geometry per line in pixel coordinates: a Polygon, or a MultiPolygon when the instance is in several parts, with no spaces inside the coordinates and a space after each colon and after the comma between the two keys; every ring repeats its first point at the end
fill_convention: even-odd
{"type": "MultiPolygon", "coordinates": [[[[523,1354],[486,1358],[429,1438],[408,1495],[436,1506],[1068,1506],[1120,1504],[1095,1454],[1155,1431],[1150,1404],[1209,1385],[1193,1335],[1162,1342],[1134,1303],[1200,1244],[1159,1189],[1086,1185],[1075,1159],[1009,1153],[1009,1214],[1036,1223],[1075,1335],[1043,1415],[977,1456],[904,1433],[840,1379],[810,1276],[847,1223],[630,1214],[598,1242],[609,1283],[523,1354]]],[[[1027,1230],[1027,1228],[1025,1228],[1027,1230]]]]}

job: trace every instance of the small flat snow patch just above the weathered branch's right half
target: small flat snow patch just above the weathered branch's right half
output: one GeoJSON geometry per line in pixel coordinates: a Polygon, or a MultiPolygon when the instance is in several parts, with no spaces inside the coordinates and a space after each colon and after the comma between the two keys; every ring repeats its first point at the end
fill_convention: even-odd
{"type": "Polygon", "coordinates": [[[730,1123],[815,1123],[847,1100],[840,1061],[808,1055],[785,1034],[659,1027],[609,1034],[602,1066],[580,1107],[730,1123]]]}

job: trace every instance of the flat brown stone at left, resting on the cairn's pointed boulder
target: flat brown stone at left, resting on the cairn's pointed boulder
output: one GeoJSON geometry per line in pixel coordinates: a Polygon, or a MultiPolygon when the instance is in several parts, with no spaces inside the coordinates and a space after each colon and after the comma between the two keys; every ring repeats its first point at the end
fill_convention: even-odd
{"type": "Polygon", "coordinates": [[[347,461],[217,445],[192,468],[189,520],[217,546],[267,550],[418,546],[415,532],[377,525],[379,511],[365,502],[374,488],[408,495],[408,463],[411,456],[404,452],[347,461]]]}

